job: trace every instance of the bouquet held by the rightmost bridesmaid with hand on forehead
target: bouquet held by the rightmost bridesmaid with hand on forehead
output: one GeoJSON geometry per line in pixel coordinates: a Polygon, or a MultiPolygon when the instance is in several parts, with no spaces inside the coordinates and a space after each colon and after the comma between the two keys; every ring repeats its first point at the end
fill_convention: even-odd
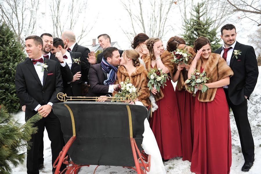
{"type": "Polygon", "coordinates": [[[196,69],[193,73],[191,73],[191,78],[186,80],[185,83],[186,84],[190,83],[190,85],[188,85],[187,89],[189,89],[189,91],[194,92],[192,95],[195,97],[197,88],[199,87],[199,85],[202,85],[202,89],[201,89],[202,93],[206,92],[206,90],[209,89],[209,87],[207,87],[205,85],[205,83],[209,79],[211,79],[211,78],[206,77],[205,71],[203,71],[202,73],[199,73],[199,71],[196,69]]]}

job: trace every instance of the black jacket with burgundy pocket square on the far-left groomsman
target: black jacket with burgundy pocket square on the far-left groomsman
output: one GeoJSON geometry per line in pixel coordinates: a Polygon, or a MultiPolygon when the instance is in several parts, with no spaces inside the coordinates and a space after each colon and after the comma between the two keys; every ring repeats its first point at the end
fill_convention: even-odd
{"type": "MultiPolygon", "coordinates": [[[[44,58],[44,62],[48,65],[48,71],[44,71],[43,85],[31,59],[19,63],[16,68],[15,89],[21,103],[26,105],[26,119],[37,114],[34,109],[38,104],[58,103],[57,94],[63,92],[60,65],[56,61],[46,58],[44,58]]],[[[53,112],[48,116],[56,117],[53,112]]]]}

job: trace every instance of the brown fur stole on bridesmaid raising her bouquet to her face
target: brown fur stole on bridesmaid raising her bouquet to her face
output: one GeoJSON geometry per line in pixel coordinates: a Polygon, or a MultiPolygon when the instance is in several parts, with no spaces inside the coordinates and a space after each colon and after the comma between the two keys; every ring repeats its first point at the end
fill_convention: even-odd
{"type": "MultiPolygon", "coordinates": [[[[187,51],[192,55],[191,58],[188,60],[188,64],[190,65],[192,60],[194,59],[196,53],[194,52],[193,48],[191,46],[186,46],[187,51]]],[[[177,72],[177,64],[175,64],[175,68],[174,68],[174,74],[177,72]]],[[[173,74],[173,76],[174,76],[173,74]]],[[[186,71],[186,69],[182,69],[182,71],[180,71],[180,77],[177,81],[177,86],[176,89],[178,91],[181,91],[182,89],[186,89],[184,87],[184,82],[188,79],[188,71],[186,71]]]]}

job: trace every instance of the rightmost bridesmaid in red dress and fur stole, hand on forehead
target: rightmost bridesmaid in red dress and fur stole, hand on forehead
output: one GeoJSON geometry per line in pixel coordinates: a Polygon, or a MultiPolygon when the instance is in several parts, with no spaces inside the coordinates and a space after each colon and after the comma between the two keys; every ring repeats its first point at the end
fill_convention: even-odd
{"type": "Polygon", "coordinates": [[[191,63],[188,78],[197,69],[205,71],[211,79],[206,83],[209,89],[196,94],[191,171],[196,174],[229,174],[231,132],[229,109],[222,87],[229,85],[229,76],[233,75],[233,71],[219,54],[211,53],[206,37],[199,37],[194,42],[194,51],[197,54],[191,63]]]}

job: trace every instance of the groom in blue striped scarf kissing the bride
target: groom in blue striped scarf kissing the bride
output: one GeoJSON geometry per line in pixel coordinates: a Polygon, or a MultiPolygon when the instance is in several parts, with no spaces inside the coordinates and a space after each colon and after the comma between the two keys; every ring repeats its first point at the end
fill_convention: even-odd
{"type": "MultiPolygon", "coordinates": [[[[99,64],[91,65],[89,71],[90,89],[86,96],[110,96],[117,89],[116,73],[119,66],[120,54],[116,47],[110,46],[103,50],[103,59],[99,64]]],[[[105,98],[104,98],[105,99],[105,98]]],[[[104,101],[104,99],[99,101],[104,101]]]]}

